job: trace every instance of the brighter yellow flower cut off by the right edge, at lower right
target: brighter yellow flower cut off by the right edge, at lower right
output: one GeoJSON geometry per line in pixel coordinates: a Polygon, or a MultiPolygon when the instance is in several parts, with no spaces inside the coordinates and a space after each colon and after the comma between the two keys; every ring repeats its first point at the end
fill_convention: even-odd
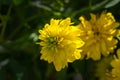
{"type": "Polygon", "coordinates": [[[113,76],[113,80],[120,80],[120,49],[117,50],[117,58],[111,62],[111,66],[113,67],[111,73],[113,76]]]}

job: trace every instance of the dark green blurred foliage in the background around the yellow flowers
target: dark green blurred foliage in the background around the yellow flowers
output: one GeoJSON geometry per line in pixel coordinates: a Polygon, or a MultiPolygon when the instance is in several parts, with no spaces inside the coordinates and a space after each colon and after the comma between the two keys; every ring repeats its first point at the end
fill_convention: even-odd
{"type": "Polygon", "coordinates": [[[39,59],[38,29],[51,18],[78,17],[107,10],[120,21],[120,0],[0,0],[0,80],[93,80],[92,60],[56,72],[39,59]],[[92,74],[91,74],[92,73],[92,74]]]}

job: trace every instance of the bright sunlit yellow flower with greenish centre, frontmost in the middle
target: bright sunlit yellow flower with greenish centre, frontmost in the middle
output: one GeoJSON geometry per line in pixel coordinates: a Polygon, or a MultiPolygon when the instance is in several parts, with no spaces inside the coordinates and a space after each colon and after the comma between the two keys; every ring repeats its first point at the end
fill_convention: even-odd
{"type": "Polygon", "coordinates": [[[50,25],[46,24],[39,33],[41,59],[53,63],[57,71],[67,66],[68,62],[80,59],[79,48],[84,42],[78,37],[79,29],[71,26],[70,18],[51,19],[50,25]]]}

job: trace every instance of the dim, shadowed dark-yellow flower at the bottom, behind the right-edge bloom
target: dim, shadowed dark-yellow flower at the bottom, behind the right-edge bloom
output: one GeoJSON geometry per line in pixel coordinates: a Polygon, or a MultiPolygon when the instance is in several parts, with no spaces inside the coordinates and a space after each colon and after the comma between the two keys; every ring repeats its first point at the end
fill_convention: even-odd
{"type": "Polygon", "coordinates": [[[97,62],[95,76],[98,77],[99,80],[113,80],[109,70],[111,68],[110,62],[112,59],[112,56],[108,56],[97,62]]]}

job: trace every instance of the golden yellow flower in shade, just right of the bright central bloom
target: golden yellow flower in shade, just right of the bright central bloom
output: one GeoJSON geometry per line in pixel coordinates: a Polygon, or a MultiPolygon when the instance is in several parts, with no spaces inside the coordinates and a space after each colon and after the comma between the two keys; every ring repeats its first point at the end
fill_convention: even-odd
{"type": "Polygon", "coordinates": [[[82,47],[82,57],[87,56],[93,60],[99,60],[101,54],[107,56],[116,48],[119,23],[115,21],[113,15],[103,12],[100,16],[91,14],[91,19],[80,18],[80,38],[85,42],[82,47]]]}

